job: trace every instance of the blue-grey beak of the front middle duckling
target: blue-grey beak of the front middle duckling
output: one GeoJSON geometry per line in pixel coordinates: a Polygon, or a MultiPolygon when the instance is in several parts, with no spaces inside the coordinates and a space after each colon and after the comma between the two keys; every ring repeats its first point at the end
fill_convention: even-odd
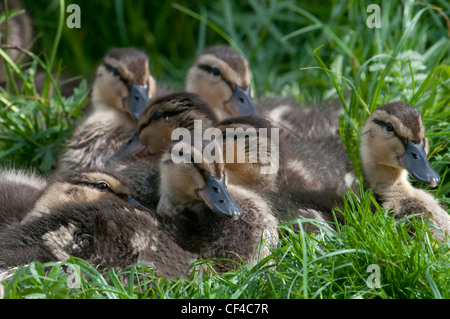
{"type": "Polygon", "coordinates": [[[232,219],[238,219],[242,216],[242,210],[230,197],[223,177],[219,180],[209,174],[205,187],[197,191],[197,196],[215,213],[232,219]]]}

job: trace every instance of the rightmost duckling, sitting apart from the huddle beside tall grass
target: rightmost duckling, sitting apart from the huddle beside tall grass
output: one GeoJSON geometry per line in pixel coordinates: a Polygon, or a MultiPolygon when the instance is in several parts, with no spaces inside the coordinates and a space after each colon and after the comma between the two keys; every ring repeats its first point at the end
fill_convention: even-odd
{"type": "MultiPolygon", "coordinates": [[[[436,199],[414,188],[407,179],[434,187],[440,177],[427,159],[428,141],[420,112],[406,103],[394,102],[376,109],[367,119],[361,135],[362,167],[368,186],[382,207],[395,216],[420,214],[450,234],[450,216],[436,199]]],[[[441,231],[431,229],[438,239],[441,231]]]]}

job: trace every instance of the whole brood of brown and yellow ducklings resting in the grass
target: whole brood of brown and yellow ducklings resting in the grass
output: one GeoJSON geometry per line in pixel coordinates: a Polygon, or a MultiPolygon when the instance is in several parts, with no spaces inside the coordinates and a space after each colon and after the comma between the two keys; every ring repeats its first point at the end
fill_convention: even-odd
{"type": "MultiPolygon", "coordinates": [[[[105,268],[152,263],[178,277],[197,259],[217,259],[217,271],[255,263],[277,245],[280,221],[307,217],[315,221],[304,223],[307,231],[333,227],[343,193],[358,187],[338,135],[341,112],[254,100],[248,62],[228,46],[198,56],[184,91],[159,87],[141,51],[112,49],[53,176],[0,172],[0,267],[75,256],[105,268]],[[220,130],[218,149],[225,159],[231,143],[231,161],[203,151],[213,138],[200,145],[172,138],[177,128],[194,133],[198,123],[202,133],[220,130]],[[256,145],[269,161],[251,161],[251,138],[230,128],[267,129],[256,145]]],[[[363,170],[383,208],[430,218],[439,239],[450,234],[449,214],[407,180],[409,172],[440,182],[420,113],[384,105],[361,136],[363,170]]]]}

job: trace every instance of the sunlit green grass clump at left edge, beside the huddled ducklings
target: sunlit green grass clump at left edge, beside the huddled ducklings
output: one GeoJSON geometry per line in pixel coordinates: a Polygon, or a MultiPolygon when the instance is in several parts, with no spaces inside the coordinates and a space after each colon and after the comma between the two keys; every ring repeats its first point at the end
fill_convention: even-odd
{"type": "MultiPolygon", "coordinates": [[[[64,1],[61,0],[61,7],[64,1]]],[[[60,10],[64,21],[64,10],[60,10]]],[[[35,168],[49,173],[56,157],[73,130],[87,101],[87,84],[68,98],[61,95],[60,69],[54,68],[56,52],[64,23],[59,23],[50,57],[42,57],[23,48],[29,61],[21,67],[0,48],[9,73],[9,81],[0,87],[0,163],[6,167],[35,168]],[[53,70],[56,69],[56,72],[53,70]],[[41,77],[39,85],[35,81],[41,77]],[[43,79],[43,81],[42,81],[43,79]],[[38,91],[38,88],[40,91],[38,91]]]]}

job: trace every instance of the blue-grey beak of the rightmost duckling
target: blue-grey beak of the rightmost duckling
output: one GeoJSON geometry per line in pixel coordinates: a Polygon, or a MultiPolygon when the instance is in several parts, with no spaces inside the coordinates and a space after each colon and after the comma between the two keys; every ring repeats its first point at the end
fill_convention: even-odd
{"type": "Polygon", "coordinates": [[[406,151],[400,156],[399,163],[414,179],[427,183],[431,187],[435,187],[441,181],[439,175],[428,162],[423,141],[420,144],[414,144],[408,140],[406,151]]]}

